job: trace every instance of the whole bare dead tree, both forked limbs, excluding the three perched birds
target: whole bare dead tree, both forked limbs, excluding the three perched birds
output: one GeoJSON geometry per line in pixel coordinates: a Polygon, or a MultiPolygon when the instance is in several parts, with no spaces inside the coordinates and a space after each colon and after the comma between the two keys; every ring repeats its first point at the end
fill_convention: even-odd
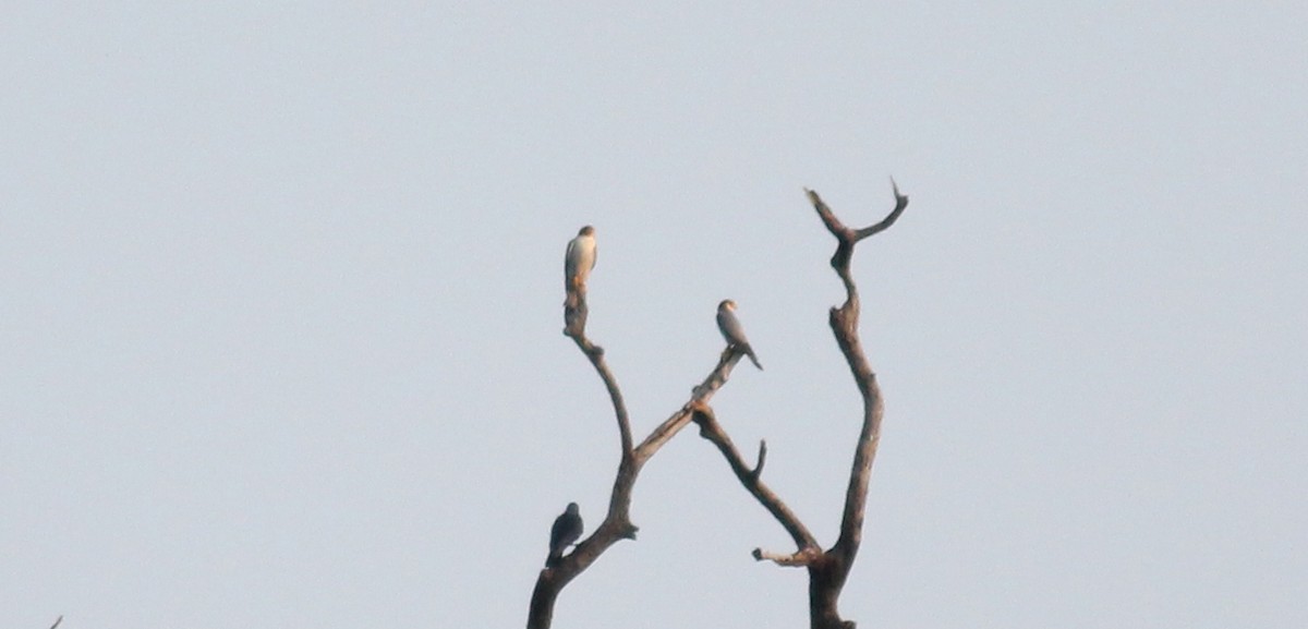
{"type": "Polygon", "coordinates": [[[795,552],[789,554],[772,553],[756,548],[753,551],[755,560],[766,560],[782,566],[803,566],[808,569],[808,616],[812,629],[854,628],[853,621],[840,617],[838,600],[845,581],[849,578],[849,571],[854,565],[854,558],[858,554],[859,543],[862,541],[867,484],[871,479],[872,460],[876,456],[876,446],[880,441],[884,407],[880,387],[876,383],[876,374],[867,362],[867,356],[858,336],[858,288],[850,272],[850,262],[854,246],[859,241],[888,229],[904,213],[904,208],[908,207],[908,197],[900,194],[899,187],[893,186],[893,180],[891,184],[895,191],[895,209],[880,222],[862,229],[845,226],[832,213],[831,208],[823,203],[818,192],[806,190],[827,230],[836,237],[836,254],[831,259],[831,265],[845,285],[845,303],[831,309],[829,324],[832,333],[836,336],[836,344],[845,356],[845,362],[849,364],[849,369],[854,375],[854,383],[863,398],[863,425],[854,449],[849,485],[845,490],[840,536],[836,539],[836,543],[823,551],[804,523],[763,483],[763,466],[768,454],[766,443],[759,443],[759,456],[751,467],[731,442],[731,437],[718,424],[709,401],[717,390],[726,383],[727,377],[730,377],[731,370],[742,357],[731,347],[722,353],[718,365],[709,373],[704,382],[695,387],[691,399],[674,412],[671,417],[659,424],[645,441],[633,446],[630,421],[627,416],[627,407],[623,403],[623,394],[617,387],[617,381],[604,362],[603,348],[593,344],[586,337],[587,307],[585,289],[582,289],[578,290],[578,299],[576,302],[572,299],[573,296],[569,296],[570,301],[565,309],[566,328],[564,333],[572,337],[577,348],[590,360],[608,388],[608,395],[613,403],[613,415],[617,418],[621,460],[617,466],[617,476],[613,480],[613,492],[610,497],[608,514],[604,520],[594,530],[590,537],[582,540],[561,562],[553,568],[543,569],[536,578],[536,587],[531,594],[527,629],[548,628],[553,617],[555,600],[564,586],[589,568],[617,540],[636,539],[637,527],[630,522],[632,490],[636,485],[636,477],[641,467],[658,449],[691,421],[698,424],[700,435],[718,447],[746,490],[777,519],[795,543],[795,552]]]}

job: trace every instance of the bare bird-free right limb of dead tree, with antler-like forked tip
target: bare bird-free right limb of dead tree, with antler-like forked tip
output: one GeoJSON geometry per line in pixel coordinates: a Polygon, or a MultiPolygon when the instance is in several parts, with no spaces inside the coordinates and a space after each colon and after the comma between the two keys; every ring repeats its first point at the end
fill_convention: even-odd
{"type": "Polygon", "coordinates": [[[808,200],[821,218],[827,230],[836,237],[836,254],[831,258],[831,265],[836,269],[841,282],[845,285],[845,303],[831,309],[829,324],[836,336],[836,345],[845,356],[845,362],[854,377],[859,395],[863,398],[863,426],[858,434],[858,443],[854,447],[854,460],[850,466],[849,486],[845,489],[845,506],[840,523],[840,536],[825,552],[820,549],[818,541],[804,527],[803,522],[790,511],[768,486],[760,480],[763,472],[764,454],[766,449],[760,445],[759,463],[749,468],[740,452],[731,443],[731,438],[717,422],[713,409],[701,404],[696,408],[695,421],[700,425],[700,435],[713,442],[727,464],[735,472],[736,479],[759,501],[768,513],[790,534],[795,541],[795,552],[791,554],[770,553],[756,548],[755,560],[772,561],[782,566],[804,566],[808,569],[808,620],[812,629],[853,629],[854,622],[841,619],[838,602],[840,592],[845,587],[849,571],[854,566],[858,556],[858,547],[863,535],[863,515],[867,506],[867,484],[872,475],[872,460],[876,458],[876,445],[882,434],[882,416],[884,405],[882,390],[876,383],[876,374],[867,362],[862,343],[858,337],[858,286],[854,284],[850,272],[850,262],[854,255],[854,246],[863,238],[879,234],[888,229],[904,213],[908,207],[908,197],[901,195],[899,186],[891,182],[895,191],[895,209],[880,222],[862,229],[845,226],[831,208],[823,203],[818,192],[806,190],[808,200]]]}

